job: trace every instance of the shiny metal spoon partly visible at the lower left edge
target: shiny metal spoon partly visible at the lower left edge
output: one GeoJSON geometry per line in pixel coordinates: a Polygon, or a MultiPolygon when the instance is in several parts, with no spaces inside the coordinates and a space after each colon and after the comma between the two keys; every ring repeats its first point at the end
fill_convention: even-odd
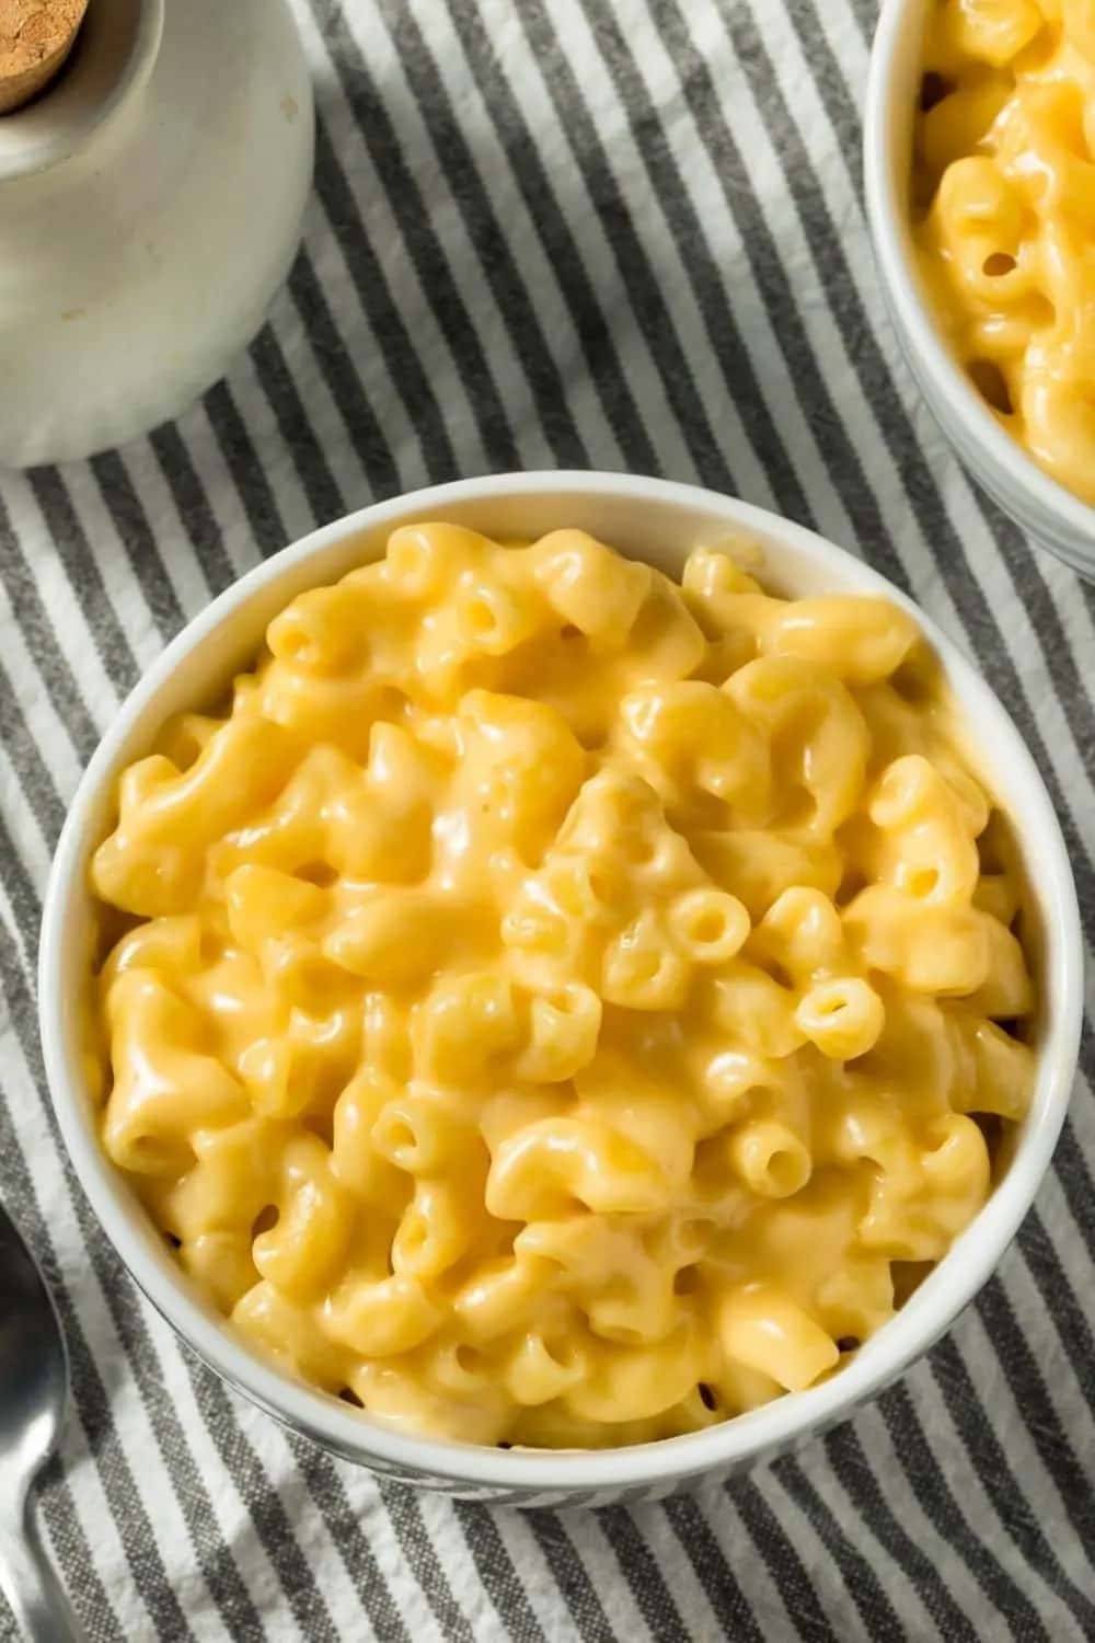
{"type": "Polygon", "coordinates": [[[38,1533],[31,1489],[53,1454],[69,1359],[46,1280],[0,1204],[0,1587],[31,1643],[82,1636],[38,1533]]]}

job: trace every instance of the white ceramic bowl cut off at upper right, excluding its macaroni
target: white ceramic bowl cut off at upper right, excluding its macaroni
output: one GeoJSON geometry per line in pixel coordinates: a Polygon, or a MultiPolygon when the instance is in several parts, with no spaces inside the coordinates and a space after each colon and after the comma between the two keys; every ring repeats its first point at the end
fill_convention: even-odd
{"type": "Polygon", "coordinates": [[[909,235],[913,113],[934,0],[885,0],[867,77],[864,191],[890,317],[919,391],[974,478],[1033,537],[1095,578],[1095,508],[1051,480],[1006,434],[951,355],[909,235]]]}

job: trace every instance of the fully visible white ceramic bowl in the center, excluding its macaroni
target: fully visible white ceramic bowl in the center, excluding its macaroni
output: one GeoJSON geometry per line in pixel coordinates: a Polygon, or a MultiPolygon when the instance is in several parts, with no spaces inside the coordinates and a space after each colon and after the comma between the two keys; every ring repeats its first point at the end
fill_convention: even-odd
{"type": "Polygon", "coordinates": [[[837,1377],[722,1426],[606,1452],[499,1451],[399,1436],[256,1357],[190,1288],[121,1175],[100,1150],[80,1060],[92,904],[87,863],[110,825],[115,777],[144,754],[167,715],[215,698],[258,651],[271,616],[302,588],[378,557],[389,531],[448,519],[502,537],[583,526],[680,573],[690,547],[745,532],[783,591],[854,590],[909,601],[821,537],[745,503],[662,480],[609,473],[517,473],[463,480],[379,503],[266,560],[228,588],[164,651],[95,752],[66,823],[49,881],[41,940],[41,1032],[53,1099],[76,1171],[102,1226],[144,1295],[217,1374],[296,1431],[337,1454],[414,1484],[519,1505],[604,1503],[655,1497],[708,1474],[770,1456],[849,1415],[893,1380],[972,1300],[1015,1236],[1064,1121],[1077,1058],[1080,927],[1061,830],[1026,746],[970,664],[919,611],[964,710],[970,746],[1010,810],[1046,932],[1039,1073],[1015,1157],[985,1209],[903,1311],[837,1377]]]}

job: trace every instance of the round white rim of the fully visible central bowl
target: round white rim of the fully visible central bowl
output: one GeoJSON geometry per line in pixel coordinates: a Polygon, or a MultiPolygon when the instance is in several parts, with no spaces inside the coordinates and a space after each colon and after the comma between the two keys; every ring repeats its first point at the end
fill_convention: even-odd
{"type": "MultiPolygon", "coordinates": [[[[775,549],[778,554],[778,545],[775,549]]],[[[120,1255],[123,1265],[167,1319],[184,1346],[238,1392],[291,1428],[307,1433],[345,1459],[394,1470],[420,1482],[443,1480],[451,1487],[484,1492],[580,1493],[599,1489],[657,1487],[683,1482],[708,1470],[727,1470],[763,1451],[803,1441],[847,1416],[877,1393],[914,1357],[919,1357],[969,1305],[1015,1237],[1042,1181],[1065,1117],[1079,1055],[1084,1004],[1084,946],[1079,904],[1069,856],[1057,817],[1019,733],[972,662],[900,588],[872,567],[803,526],[767,509],[693,485],[598,472],[530,472],[489,475],[427,486],[374,503],[332,521],[271,555],[210,601],[163,651],[130,692],[112,720],[72,798],[49,874],[39,946],[39,1022],[46,1078],[77,1180],[120,1255]],[[1039,1050],[1039,1076],[1031,1116],[1015,1147],[1015,1157],[983,1209],[960,1234],[942,1262],[901,1311],[857,1352],[839,1375],[806,1392],[732,1420],[648,1444],[617,1449],[540,1451],[463,1444],[410,1436],[350,1411],[264,1360],[235,1336],[230,1324],[204,1306],[190,1285],[169,1263],[166,1250],[153,1249],[148,1222],[115,1165],[102,1152],[94,1107],[82,1086],[77,1012],[64,996],[64,953],[69,912],[87,894],[85,859],[97,843],[90,823],[102,789],[115,777],[118,752],[158,698],[176,665],[202,639],[227,623],[268,585],[309,559],[363,531],[391,529],[402,518],[424,513],[445,516],[450,504],[529,499],[548,493],[594,503],[660,501],[670,509],[699,509],[726,519],[727,534],[755,534],[781,544],[814,565],[836,572],[834,582],[878,591],[911,611],[944,664],[955,702],[970,721],[993,721],[993,746],[1006,751],[1010,769],[1021,772],[1023,836],[1038,846],[1039,886],[1046,907],[1046,992],[1051,999],[1046,1038],[1039,1050]],[[839,572],[844,572],[844,577],[839,572]]]]}

